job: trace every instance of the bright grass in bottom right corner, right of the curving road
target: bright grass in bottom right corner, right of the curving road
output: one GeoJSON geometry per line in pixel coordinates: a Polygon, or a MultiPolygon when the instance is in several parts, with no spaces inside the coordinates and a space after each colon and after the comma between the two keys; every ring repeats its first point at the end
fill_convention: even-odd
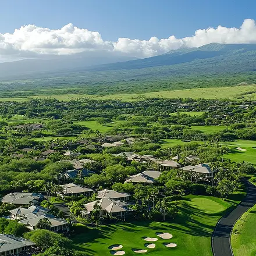
{"type": "Polygon", "coordinates": [[[253,256],[256,254],[256,205],[244,213],[234,225],[231,244],[234,256],[253,256]]]}

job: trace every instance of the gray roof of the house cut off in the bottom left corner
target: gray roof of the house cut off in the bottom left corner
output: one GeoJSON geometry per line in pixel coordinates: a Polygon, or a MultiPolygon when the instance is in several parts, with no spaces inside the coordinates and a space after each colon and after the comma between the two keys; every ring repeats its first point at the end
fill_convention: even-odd
{"type": "Polygon", "coordinates": [[[0,234],[0,253],[34,245],[35,243],[22,237],[16,237],[12,234],[0,234]]]}

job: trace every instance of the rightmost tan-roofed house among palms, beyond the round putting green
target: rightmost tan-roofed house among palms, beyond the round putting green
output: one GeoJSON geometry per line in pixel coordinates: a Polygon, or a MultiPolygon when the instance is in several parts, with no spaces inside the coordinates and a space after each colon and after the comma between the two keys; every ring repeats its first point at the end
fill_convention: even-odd
{"type": "MultiPolygon", "coordinates": [[[[182,168],[181,170],[187,170],[191,173],[197,173],[198,177],[194,177],[194,179],[198,180],[206,180],[208,182],[212,181],[214,179],[214,173],[216,170],[212,170],[211,166],[208,165],[208,163],[200,163],[199,165],[187,165],[182,168]]],[[[193,179],[193,177],[191,177],[193,179]]]]}

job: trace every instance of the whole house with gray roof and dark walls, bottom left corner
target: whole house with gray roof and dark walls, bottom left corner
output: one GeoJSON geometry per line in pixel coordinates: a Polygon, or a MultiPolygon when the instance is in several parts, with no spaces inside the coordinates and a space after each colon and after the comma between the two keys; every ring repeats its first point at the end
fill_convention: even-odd
{"type": "Polygon", "coordinates": [[[0,255],[22,255],[22,253],[31,252],[31,247],[35,246],[30,240],[22,237],[16,237],[12,234],[0,234],[0,255]]]}

